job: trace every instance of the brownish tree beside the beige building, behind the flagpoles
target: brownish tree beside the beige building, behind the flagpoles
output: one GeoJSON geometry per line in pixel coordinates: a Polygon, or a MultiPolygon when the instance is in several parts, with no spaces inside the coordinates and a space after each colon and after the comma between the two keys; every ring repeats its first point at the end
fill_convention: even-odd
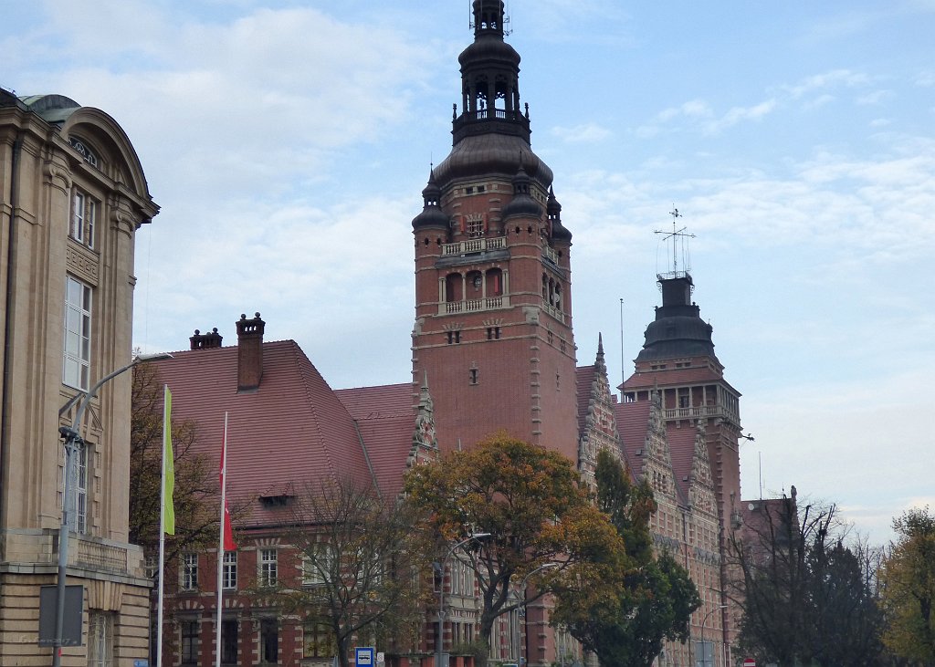
{"type": "MultiPolygon", "coordinates": [[[[221,489],[218,471],[197,453],[194,422],[172,420],[175,458],[176,534],[165,542],[165,561],[182,551],[216,546],[221,489]]],[[[160,491],[163,463],[163,387],[155,368],[141,363],[133,369],[130,418],[130,542],[153,555],[159,543],[160,491]]],[[[232,516],[242,510],[231,508],[232,516]]]]}

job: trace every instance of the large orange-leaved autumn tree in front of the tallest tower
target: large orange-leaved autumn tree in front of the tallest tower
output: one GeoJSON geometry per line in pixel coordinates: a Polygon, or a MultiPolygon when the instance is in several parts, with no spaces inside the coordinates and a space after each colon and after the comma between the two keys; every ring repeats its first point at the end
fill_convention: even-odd
{"type": "Polygon", "coordinates": [[[431,513],[441,548],[489,533],[464,555],[481,591],[488,647],[497,617],[547,591],[578,589],[596,608],[612,600],[615,590],[606,582],[619,578],[623,540],[561,454],[498,434],[411,470],[405,488],[413,504],[431,513]],[[533,574],[547,563],[559,565],[533,574]],[[512,596],[527,575],[536,591],[525,600],[512,596]]]}

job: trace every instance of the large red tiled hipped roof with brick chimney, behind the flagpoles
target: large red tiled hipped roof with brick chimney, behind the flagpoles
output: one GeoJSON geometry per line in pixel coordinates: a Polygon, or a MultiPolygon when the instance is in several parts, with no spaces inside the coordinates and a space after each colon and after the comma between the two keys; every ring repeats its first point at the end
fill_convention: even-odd
{"type": "Polygon", "coordinates": [[[348,410],[295,341],[263,344],[259,388],[237,392],[237,347],[174,353],[152,362],[172,391],[173,419],[197,424],[196,451],[218,465],[228,414],[227,494],[251,504],[248,525],[281,517],[252,504],[257,496],[296,495],[323,482],[372,484],[348,410]]]}

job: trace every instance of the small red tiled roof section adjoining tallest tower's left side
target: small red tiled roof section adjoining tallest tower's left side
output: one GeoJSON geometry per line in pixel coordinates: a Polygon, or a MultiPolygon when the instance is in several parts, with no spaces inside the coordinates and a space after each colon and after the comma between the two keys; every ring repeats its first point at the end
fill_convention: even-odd
{"type": "Polygon", "coordinates": [[[415,429],[411,383],[336,390],[357,425],[384,498],[402,490],[415,429]]]}

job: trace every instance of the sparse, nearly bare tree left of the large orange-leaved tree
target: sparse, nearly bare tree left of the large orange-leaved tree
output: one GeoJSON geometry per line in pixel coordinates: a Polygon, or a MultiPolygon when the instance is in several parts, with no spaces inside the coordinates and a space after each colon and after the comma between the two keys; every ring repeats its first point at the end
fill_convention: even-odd
{"type": "Polygon", "coordinates": [[[289,517],[285,541],[300,566],[276,592],[284,613],[301,618],[309,636],[323,631],[342,667],[357,637],[414,641],[428,558],[412,506],[345,479],[309,485],[289,517]]]}

